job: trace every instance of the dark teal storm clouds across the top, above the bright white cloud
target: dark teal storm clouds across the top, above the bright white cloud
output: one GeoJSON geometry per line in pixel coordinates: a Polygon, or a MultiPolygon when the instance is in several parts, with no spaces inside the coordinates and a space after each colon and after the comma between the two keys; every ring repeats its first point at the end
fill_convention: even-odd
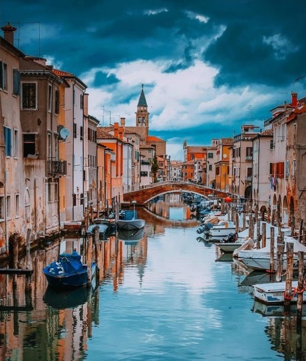
{"type": "Polygon", "coordinates": [[[175,72],[199,56],[219,69],[216,86],[288,86],[305,72],[304,0],[3,0],[1,7],[2,24],[23,24],[22,51],[37,55],[38,34],[26,41],[30,24],[25,23],[40,22],[41,55],[51,55],[77,75],[135,59],[168,59],[173,65],[167,71],[175,72]],[[221,26],[225,32],[206,49],[201,41],[221,26]],[[49,29],[54,36],[48,36],[49,29]]]}

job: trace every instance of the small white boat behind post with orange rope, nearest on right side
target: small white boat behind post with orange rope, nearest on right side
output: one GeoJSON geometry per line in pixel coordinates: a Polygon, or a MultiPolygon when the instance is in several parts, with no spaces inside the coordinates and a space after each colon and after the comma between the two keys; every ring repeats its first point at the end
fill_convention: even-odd
{"type": "MultiPolygon", "coordinates": [[[[294,292],[291,302],[297,301],[297,293],[295,292],[297,281],[292,282],[292,292],[294,292]]],[[[264,303],[284,303],[285,301],[286,282],[262,283],[254,285],[254,297],[264,303]]]]}

